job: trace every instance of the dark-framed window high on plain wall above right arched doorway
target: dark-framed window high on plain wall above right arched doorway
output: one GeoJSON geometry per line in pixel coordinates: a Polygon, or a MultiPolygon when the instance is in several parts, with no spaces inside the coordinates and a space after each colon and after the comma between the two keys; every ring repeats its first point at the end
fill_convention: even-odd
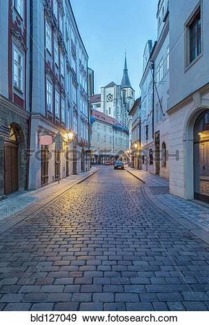
{"type": "Polygon", "coordinates": [[[196,12],[188,25],[189,38],[189,63],[193,62],[201,54],[201,12],[196,12]]]}

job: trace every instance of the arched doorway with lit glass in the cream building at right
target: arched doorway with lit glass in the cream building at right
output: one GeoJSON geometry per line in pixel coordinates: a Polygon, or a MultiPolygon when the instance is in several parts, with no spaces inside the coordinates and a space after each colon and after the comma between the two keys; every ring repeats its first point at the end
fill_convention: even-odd
{"type": "Polygon", "coordinates": [[[209,111],[204,111],[194,125],[193,141],[194,197],[209,203],[209,111]]]}

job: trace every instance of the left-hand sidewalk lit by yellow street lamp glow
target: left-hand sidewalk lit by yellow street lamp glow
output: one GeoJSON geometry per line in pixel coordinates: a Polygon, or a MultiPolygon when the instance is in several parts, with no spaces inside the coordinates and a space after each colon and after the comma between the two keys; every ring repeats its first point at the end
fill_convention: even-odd
{"type": "Polygon", "coordinates": [[[15,192],[0,201],[0,234],[97,171],[92,167],[90,171],[63,178],[60,183],[54,182],[34,191],[15,192]]]}

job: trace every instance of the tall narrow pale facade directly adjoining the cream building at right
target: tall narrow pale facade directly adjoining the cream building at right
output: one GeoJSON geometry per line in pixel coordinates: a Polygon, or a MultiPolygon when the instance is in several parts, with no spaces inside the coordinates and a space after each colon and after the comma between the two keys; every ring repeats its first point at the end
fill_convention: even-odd
{"type": "Polygon", "coordinates": [[[155,68],[154,124],[155,174],[169,178],[169,95],[170,95],[170,34],[168,0],[161,0],[157,10],[157,43],[150,58],[155,68]]]}

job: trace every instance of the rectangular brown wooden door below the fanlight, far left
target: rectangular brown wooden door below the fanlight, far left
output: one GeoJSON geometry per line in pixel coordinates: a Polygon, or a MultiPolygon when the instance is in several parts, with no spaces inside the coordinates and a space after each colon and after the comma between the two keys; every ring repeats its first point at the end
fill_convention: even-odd
{"type": "Polygon", "coordinates": [[[4,145],[4,184],[6,195],[18,189],[18,143],[14,141],[4,145]]]}

